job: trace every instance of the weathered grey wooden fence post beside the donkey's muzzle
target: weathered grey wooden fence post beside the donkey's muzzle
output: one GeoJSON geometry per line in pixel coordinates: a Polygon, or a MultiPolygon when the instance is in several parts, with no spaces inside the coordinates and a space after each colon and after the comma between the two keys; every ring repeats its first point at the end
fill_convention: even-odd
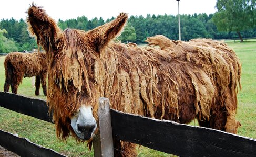
{"type": "Polygon", "coordinates": [[[114,156],[111,117],[108,98],[99,98],[98,120],[99,130],[93,139],[94,156],[114,156]]]}

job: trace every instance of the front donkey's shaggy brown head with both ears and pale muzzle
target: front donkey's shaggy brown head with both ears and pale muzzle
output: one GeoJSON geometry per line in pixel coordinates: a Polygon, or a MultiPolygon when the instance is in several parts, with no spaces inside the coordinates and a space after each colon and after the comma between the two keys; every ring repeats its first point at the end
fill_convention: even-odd
{"type": "Polygon", "coordinates": [[[65,140],[71,132],[78,140],[89,140],[97,128],[98,98],[104,95],[97,80],[104,73],[100,54],[120,34],[128,16],[121,13],[110,23],[85,32],[62,31],[34,4],[27,13],[30,34],[47,52],[47,104],[53,110],[57,136],[65,140]]]}

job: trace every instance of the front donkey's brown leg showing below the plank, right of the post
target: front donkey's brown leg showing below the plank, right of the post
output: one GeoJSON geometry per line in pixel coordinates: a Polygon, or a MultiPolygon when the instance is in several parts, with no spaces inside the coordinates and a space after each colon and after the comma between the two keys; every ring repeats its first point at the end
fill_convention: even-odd
{"type": "Polygon", "coordinates": [[[130,156],[137,156],[136,152],[136,144],[120,141],[117,139],[113,139],[114,144],[114,156],[115,157],[130,157],[130,156]]]}

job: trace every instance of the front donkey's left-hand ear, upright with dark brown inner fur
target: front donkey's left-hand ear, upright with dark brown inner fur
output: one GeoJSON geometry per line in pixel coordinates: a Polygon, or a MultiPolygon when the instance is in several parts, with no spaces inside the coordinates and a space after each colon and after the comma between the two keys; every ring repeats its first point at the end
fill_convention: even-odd
{"type": "Polygon", "coordinates": [[[42,7],[32,4],[27,11],[28,31],[36,36],[39,43],[47,52],[57,48],[57,41],[62,35],[62,30],[57,26],[54,19],[49,17],[42,7]]]}

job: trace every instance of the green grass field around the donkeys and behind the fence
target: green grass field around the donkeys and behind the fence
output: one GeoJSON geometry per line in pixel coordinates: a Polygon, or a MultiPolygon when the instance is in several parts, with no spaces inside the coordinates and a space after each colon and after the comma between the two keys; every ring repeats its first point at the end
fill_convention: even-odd
{"type": "MultiPolygon", "coordinates": [[[[256,42],[228,42],[235,50],[242,62],[242,90],[239,91],[237,120],[242,126],[238,134],[256,139],[256,42]]],[[[4,57],[0,57],[0,91],[3,91],[5,81],[4,57]]],[[[18,93],[28,97],[46,99],[40,89],[40,96],[35,96],[31,78],[24,78],[18,87],[18,93]]],[[[15,113],[14,111],[0,107],[0,129],[17,133],[19,137],[28,138],[30,141],[53,149],[67,156],[93,156],[89,152],[86,143],[77,144],[69,138],[64,143],[56,138],[55,127],[48,122],[15,113]]],[[[191,125],[197,122],[191,122],[191,125]]],[[[138,147],[138,156],[172,156],[145,147],[138,147]]]]}

